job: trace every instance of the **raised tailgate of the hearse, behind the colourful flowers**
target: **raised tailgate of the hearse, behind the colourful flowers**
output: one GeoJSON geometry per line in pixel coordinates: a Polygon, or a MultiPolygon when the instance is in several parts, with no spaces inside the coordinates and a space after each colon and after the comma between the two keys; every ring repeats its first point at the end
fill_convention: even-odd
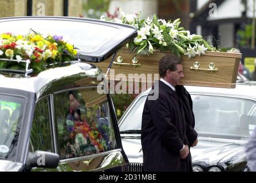
{"type": "Polygon", "coordinates": [[[0,34],[25,35],[33,30],[45,36],[62,36],[77,47],[80,59],[90,62],[104,61],[137,36],[133,26],[76,17],[0,18],[0,27],[0,34]]]}

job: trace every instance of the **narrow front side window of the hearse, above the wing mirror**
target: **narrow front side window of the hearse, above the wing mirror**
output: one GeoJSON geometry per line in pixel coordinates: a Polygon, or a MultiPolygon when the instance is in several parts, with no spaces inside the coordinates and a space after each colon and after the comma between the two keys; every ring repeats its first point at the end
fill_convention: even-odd
{"type": "Polygon", "coordinates": [[[34,112],[29,151],[36,150],[53,152],[48,98],[38,101],[34,112]]]}

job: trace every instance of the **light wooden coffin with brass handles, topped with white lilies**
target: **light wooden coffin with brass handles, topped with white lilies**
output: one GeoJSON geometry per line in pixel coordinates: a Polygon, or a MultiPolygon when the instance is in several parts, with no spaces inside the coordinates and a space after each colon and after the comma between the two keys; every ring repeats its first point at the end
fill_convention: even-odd
{"type": "MultiPolygon", "coordinates": [[[[132,63],[133,54],[128,49],[120,49],[111,69],[115,69],[115,76],[125,74],[127,81],[131,81],[128,74],[158,74],[159,59],[166,54],[170,53],[156,51],[152,55],[137,55],[138,62],[132,63]],[[119,56],[123,58],[121,63],[117,62],[117,60],[120,62],[120,58],[117,59],[119,56]]],[[[234,88],[241,58],[242,54],[240,53],[214,51],[206,51],[206,54],[190,59],[187,58],[187,55],[183,55],[184,78],[181,84],[234,88]]],[[[106,61],[95,65],[99,66],[105,73],[110,62],[111,58],[108,58],[106,61]]],[[[113,74],[110,79],[119,80],[119,78],[113,77],[113,74]]],[[[154,81],[152,75],[152,82],[154,81]]]]}

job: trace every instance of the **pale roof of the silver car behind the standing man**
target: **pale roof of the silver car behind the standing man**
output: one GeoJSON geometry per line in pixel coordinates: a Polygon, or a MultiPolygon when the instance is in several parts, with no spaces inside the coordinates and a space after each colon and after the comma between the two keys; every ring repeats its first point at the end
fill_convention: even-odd
{"type": "MultiPolygon", "coordinates": [[[[220,88],[220,87],[205,87],[205,86],[185,86],[190,94],[209,94],[216,96],[229,96],[238,98],[248,98],[256,100],[256,83],[237,83],[234,89],[220,88]]],[[[151,89],[141,93],[147,95],[151,89]]]]}

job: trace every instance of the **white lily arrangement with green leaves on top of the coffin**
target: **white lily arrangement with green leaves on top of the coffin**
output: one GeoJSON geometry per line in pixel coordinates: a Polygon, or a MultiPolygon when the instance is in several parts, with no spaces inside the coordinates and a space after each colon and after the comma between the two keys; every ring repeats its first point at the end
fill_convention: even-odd
{"type": "Polygon", "coordinates": [[[179,27],[180,19],[166,21],[158,19],[156,15],[142,18],[138,14],[125,14],[119,9],[120,18],[114,20],[101,16],[101,20],[125,23],[135,26],[137,37],[127,47],[135,55],[153,54],[156,50],[170,51],[172,54],[188,55],[188,58],[205,54],[205,51],[218,51],[211,46],[202,35],[190,34],[190,31],[179,27]]]}

